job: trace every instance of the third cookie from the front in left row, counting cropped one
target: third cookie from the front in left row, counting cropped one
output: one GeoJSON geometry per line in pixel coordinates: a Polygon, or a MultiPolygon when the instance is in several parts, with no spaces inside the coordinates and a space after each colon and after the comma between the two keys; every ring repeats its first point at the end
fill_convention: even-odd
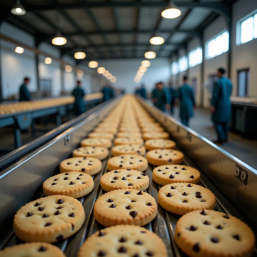
{"type": "Polygon", "coordinates": [[[44,181],[45,196],[66,195],[79,198],[89,194],[94,189],[92,177],[84,172],[69,171],[52,176],[44,181]]]}

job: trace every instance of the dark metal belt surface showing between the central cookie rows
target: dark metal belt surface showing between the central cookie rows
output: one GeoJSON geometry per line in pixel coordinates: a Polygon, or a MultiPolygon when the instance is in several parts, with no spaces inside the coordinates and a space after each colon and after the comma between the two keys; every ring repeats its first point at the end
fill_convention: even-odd
{"type": "MultiPolygon", "coordinates": [[[[95,124],[96,125],[96,124],[95,124]]],[[[89,131],[88,131],[89,132],[89,131]]],[[[173,138],[173,140],[176,141],[176,138],[173,138]]],[[[182,151],[181,148],[177,147],[177,150],[182,151]]],[[[111,152],[111,151],[110,151],[111,152]]],[[[111,157],[111,154],[109,154],[109,157],[111,157]]],[[[61,160],[59,160],[60,162],[61,160]]],[[[94,216],[93,216],[93,206],[94,202],[96,199],[101,196],[102,194],[105,193],[105,191],[102,190],[100,187],[100,177],[103,175],[103,173],[107,172],[107,160],[102,161],[102,171],[99,172],[97,175],[94,176],[94,183],[95,183],[95,188],[94,190],[87,196],[79,198],[78,200],[81,202],[85,209],[85,214],[86,214],[86,221],[82,228],[73,236],[70,238],[64,240],[63,242],[56,243],[56,245],[62,249],[63,252],[69,257],[75,257],[77,256],[77,252],[81,246],[81,244],[85,241],[85,239],[90,236],[91,234],[95,233],[96,231],[100,230],[103,228],[102,225],[100,225],[98,222],[95,221],[94,216]]],[[[185,153],[185,158],[183,164],[189,165],[192,167],[197,168],[201,172],[201,180],[200,180],[200,185],[205,186],[208,189],[210,189],[216,196],[216,210],[231,214],[233,216],[236,216],[240,219],[243,219],[236,209],[233,208],[233,206],[226,200],[226,198],[220,193],[220,191],[217,189],[216,185],[213,185],[208,178],[205,176],[204,172],[201,171],[201,169],[188,157],[188,155],[185,153]]],[[[158,190],[160,189],[160,186],[157,185],[155,182],[152,181],[152,170],[153,166],[149,165],[146,173],[149,176],[150,179],[150,185],[149,188],[147,189],[147,192],[151,194],[155,200],[157,201],[157,195],[158,195],[158,190]]],[[[56,172],[58,173],[58,172],[56,172]]],[[[1,185],[1,178],[0,178],[0,185],[1,185]]],[[[42,185],[41,185],[41,195],[42,194],[42,185]]],[[[37,199],[37,198],[33,198],[37,199]]],[[[145,228],[157,233],[164,243],[167,246],[168,249],[168,254],[169,256],[178,256],[178,257],[185,257],[186,255],[182,253],[178,247],[176,246],[173,235],[176,227],[176,222],[179,219],[179,215],[175,215],[172,213],[167,212],[164,210],[162,207],[158,206],[158,213],[157,217],[148,225],[145,226],[145,228]]],[[[251,226],[251,224],[249,224],[251,226]]],[[[10,229],[10,228],[9,228],[10,229]]],[[[0,245],[0,249],[11,246],[14,244],[21,243],[21,241],[15,236],[12,230],[10,232],[6,232],[3,235],[3,232],[1,233],[2,235],[2,244],[0,245]],[[3,236],[5,239],[3,240],[3,236]]],[[[255,248],[255,253],[253,256],[257,256],[257,250],[255,248]]]]}

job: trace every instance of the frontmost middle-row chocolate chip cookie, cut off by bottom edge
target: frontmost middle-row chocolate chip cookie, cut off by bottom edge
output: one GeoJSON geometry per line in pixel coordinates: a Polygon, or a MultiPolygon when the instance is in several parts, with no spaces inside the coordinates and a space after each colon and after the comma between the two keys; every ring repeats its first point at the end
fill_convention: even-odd
{"type": "Polygon", "coordinates": [[[78,257],[119,255],[168,257],[166,246],[157,234],[134,225],[116,225],[97,231],[86,239],[78,253],[78,257]]]}

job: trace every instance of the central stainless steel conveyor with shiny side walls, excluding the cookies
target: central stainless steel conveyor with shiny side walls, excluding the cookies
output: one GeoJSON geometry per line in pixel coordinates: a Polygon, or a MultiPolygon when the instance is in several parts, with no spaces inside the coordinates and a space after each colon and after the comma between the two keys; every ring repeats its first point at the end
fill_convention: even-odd
{"type": "MultiPolygon", "coordinates": [[[[121,98],[111,100],[107,105],[97,109],[80,123],[68,128],[53,140],[29,154],[19,162],[0,173],[0,249],[21,243],[12,229],[13,215],[25,203],[43,195],[42,183],[48,177],[59,172],[59,163],[71,156],[73,149],[79,146],[96,125],[116,106],[121,98]]],[[[138,98],[144,108],[170,133],[176,141],[177,149],[185,154],[184,164],[197,168],[201,172],[200,185],[209,188],[217,199],[216,210],[243,219],[256,231],[257,196],[254,192],[257,171],[225,152],[212,142],[183,126],[168,114],[159,111],[149,102],[138,98]]],[[[81,230],[72,237],[57,243],[67,256],[77,256],[80,245],[85,238],[102,228],[93,216],[93,206],[97,197],[104,191],[99,180],[106,172],[107,160],[103,169],[94,176],[95,188],[78,199],[85,209],[86,221],[81,230]]],[[[157,200],[160,186],[152,181],[152,167],[146,173],[150,178],[147,192],[157,200]]],[[[165,242],[169,256],[186,256],[175,245],[173,235],[176,222],[180,216],[166,212],[158,206],[157,217],[146,228],[157,233],[165,242]]],[[[255,248],[254,256],[257,256],[255,248]]]]}

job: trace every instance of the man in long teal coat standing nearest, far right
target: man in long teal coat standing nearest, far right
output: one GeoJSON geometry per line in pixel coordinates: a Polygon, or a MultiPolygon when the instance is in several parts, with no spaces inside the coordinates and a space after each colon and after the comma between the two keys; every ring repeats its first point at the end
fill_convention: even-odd
{"type": "Polygon", "coordinates": [[[217,70],[218,81],[214,83],[212,95],[212,121],[217,133],[217,141],[214,143],[222,144],[227,142],[229,121],[231,119],[230,95],[232,92],[232,83],[229,78],[224,77],[225,69],[217,70]]]}

